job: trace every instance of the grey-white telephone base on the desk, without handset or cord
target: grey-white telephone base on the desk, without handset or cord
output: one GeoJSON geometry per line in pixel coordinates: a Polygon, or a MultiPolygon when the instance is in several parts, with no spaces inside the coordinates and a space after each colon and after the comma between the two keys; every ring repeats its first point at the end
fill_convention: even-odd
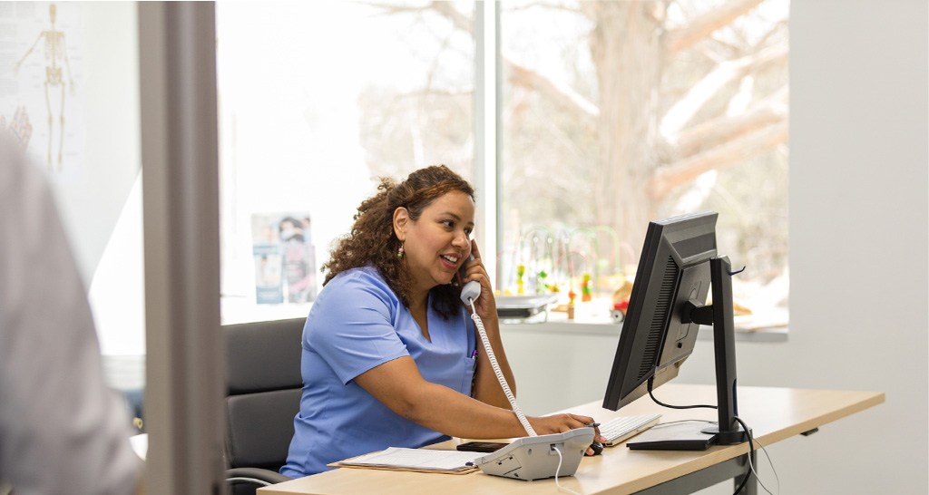
{"type": "Polygon", "coordinates": [[[526,481],[556,475],[569,476],[577,472],[584,452],[593,442],[594,428],[578,428],[554,435],[526,436],[513,440],[503,449],[478,457],[474,464],[488,475],[526,481]],[[561,451],[560,460],[555,449],[561,451]]]}

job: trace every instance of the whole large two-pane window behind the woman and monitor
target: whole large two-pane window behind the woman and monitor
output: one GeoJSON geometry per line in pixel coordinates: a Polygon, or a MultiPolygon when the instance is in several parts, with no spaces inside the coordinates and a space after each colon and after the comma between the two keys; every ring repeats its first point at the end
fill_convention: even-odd
{"type": "Polygon", "coordinates": [[[288,306],[273,304],[290,296],[285,248],[256,247],[282,246],[286,217],[308,226],[318,290],[375,177],[446,163],[499,176],[499,202],[479,190],[478,202],[497,214],[504,295],[564,302],[584,288],[608,301],[648,220],[714,210],[720,252],[748,266],[737,302],[786,322],[788,5],[219,4],[224,318],[288,306]],[[499,24],[481,24],[491,6],[499,24]],[[487,30],[499,44],[478,43],[487,30]],[[495,58],[496,112],[475,104],[475,60],[495,58]],[[474,130],[497,112],[499,163],[479,159],[474,130]],[[258,290],[268,263],[284,287],[270,296],[258,290]]]}

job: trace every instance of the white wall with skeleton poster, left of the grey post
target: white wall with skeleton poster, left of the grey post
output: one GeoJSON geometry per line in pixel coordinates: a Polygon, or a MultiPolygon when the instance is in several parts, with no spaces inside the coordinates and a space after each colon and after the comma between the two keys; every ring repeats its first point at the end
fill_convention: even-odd
{"type": "Polygon", "coordinates": [[[107,381],[138,407],[145,279],[137,5],[3,2],[0,24],[0,129],[20,140],[52,186],[107,381]]]}

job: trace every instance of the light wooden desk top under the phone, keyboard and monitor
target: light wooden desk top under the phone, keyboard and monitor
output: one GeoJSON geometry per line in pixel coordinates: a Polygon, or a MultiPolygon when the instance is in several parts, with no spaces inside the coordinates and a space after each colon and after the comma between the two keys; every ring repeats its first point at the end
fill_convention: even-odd
{"type": "MultiPolygon", "coordinates": [[[[674,405],[714,404],[715,387],[665,384],[655,391],[655,396],[674,405]]],[[[883,399],[883,393],[880,392],[742,386],[739,387],[739,417],[752,428],[755,438],[767,446],[876,406],[883,399]]],[[[591,402],[571,411],[592,416],[599,422],[618,415],[650,411],[660,411],[662,423],[716,419],[715,410],[664,409],[654,404],[648,396],[636,400],[619,412],[604,410],[600,404],[600,401],[591,402]]],[[[430,448],[453,449],[460,441],[452,439],[430,448]]],[[[698,452],[630,450],[620,445],[605,449],[603,455],[584,458],[577,473],[560,478],[560,483],[587,495],[691,492],[744,473],[747,452],[747,443],[712,447],[698,452]]],[[[752,483],[749,484],[753,487],[752,483]]],[[[436,475],[368,469],[336,469],[258,490],[259,495],[556,492],[553,479],[519,481],[480,472],[470,475],[436,475]]]]}

